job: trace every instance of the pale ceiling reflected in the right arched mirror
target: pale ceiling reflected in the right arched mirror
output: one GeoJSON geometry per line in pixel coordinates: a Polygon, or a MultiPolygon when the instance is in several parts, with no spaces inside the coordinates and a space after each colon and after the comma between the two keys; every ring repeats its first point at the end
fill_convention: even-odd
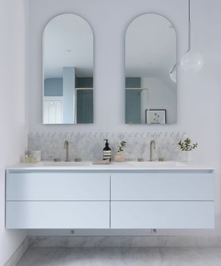
{"type": "Polygon", "coordinates": [[[176,33],[171,22],[149,13],[134,19],[126,30],[126,76],[168,76],[176,62],[176,33]]]}

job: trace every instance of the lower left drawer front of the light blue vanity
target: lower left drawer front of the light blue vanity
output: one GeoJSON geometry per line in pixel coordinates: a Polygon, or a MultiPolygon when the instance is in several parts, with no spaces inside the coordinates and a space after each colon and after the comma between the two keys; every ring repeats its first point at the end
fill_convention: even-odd
{"type": "Polygon", "coordinates": [[[7,202],[6,229],[106,229],[109,202],[7,202]]]}

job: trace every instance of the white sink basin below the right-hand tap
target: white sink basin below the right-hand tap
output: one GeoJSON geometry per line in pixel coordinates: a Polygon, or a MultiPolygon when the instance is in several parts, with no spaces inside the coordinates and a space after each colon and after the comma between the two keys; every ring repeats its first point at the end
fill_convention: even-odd
{"type": "Polygon", "coordinates": [[[164,168],[164,167],[182,167],[186,166],[186,163],[180,161],[128,161],[130,166],[137,167],[154,167],[154,168],[164,168]]]}

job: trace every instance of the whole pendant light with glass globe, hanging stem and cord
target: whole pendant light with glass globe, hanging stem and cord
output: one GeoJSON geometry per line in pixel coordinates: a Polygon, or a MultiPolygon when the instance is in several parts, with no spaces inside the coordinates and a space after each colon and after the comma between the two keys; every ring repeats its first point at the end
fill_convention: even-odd
{"type": "Polygon", "coordinates": [[[188,50],[182,56],[180,62],[177,62],[173,69],[170,71],[171,80],[174,80],[174,72],[179,64],[186,72],[193,73],[199,72],[203,66],[203,57],[200,53],[191,51],[191,0],[189,0],[189,25],[188,25],[188,50]]]}

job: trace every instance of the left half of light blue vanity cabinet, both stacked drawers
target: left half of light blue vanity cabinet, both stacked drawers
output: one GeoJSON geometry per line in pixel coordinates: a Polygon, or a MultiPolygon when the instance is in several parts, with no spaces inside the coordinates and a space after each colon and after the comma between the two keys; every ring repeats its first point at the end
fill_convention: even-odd
{"type": "Polygon", "coordinates": [[[110,227],[110,175],[7,172],[6,228],[110,227]]]}

